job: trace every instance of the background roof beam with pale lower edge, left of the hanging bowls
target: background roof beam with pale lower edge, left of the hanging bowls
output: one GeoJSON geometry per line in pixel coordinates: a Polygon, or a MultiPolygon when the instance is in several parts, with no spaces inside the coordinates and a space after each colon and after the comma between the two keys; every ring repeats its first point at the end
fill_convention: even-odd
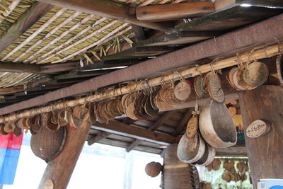
{"type": "Polygon", "coordinates": [[[109,121],[108,124],[96,122],[91,127],[95,130],[101,130],[104,132],[110,132],[112,134],[119,134],[125,137],[132,137],[134,139],[141,139],[146,142],[153,142],[156,144],[163,144],[163,145],[168,145],[173,142],[178,142],[178,140],[180,139],[179,137],[172,137],[167,134],[144,130],[139,127],[126,125],[122,122],[117,122],[117,121],[109,121]]]}

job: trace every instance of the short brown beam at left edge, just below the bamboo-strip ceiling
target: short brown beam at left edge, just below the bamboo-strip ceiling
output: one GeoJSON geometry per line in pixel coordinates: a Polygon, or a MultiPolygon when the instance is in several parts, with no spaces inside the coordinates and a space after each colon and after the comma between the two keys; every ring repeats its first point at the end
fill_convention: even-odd
{"type": "Polygon", "coordinates": [[[0,62],[0,71],[38,74],[40,73],[40,65],[0,62]]]}

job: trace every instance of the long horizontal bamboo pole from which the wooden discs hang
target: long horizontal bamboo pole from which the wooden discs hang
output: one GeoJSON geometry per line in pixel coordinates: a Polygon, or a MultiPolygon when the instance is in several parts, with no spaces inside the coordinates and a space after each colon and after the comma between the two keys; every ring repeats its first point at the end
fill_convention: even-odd
{"type": "Polygon", "coordinates": [[[227,67],[233,67],[238,64],[238,61],[243,62],[243,63],[248,62],[250,61],[251,57],[252,59],[263,59],[267,57],[273,57],[275,55],[278,55],[279,50],[281,50],[282,48],[283,48],[283,45],[272,45],[269,47],[262,47],[262,49],[253,51],[253,55],[251,55],[250,52],[245,52],[243,53],[243,55],[215,61],[213,65],[212,64],[201,65],[200,67],[198,67],[198,70],[194,67],[194,68],[185,69],[183,71],[180,71],[178,72],[178,74],[173,73],[173,74],[168,74],[166,76],[158,76],[154,79],[149,79],[148,81],[146,81],[146,84],[144,84],[144,82],[140,82],[137,84],[129,84],[128,86],[112,89],[112,90],[105,91],[102,93],[96,93],[94,95],[86,96],[86,97],[79,98],[76,100],[65,101],[62,103],[54,104],[54,105],[47,105],[45,107],[35,108],[32,110],[25,110],[22,113],[17,113],[17,114],[1,117],[0,122],[18,120],[19,118],[26,118],[26,117],[37,115],[40,113],[47,113],[52,110],[59,110],[62,108],[67,108],[67,107],[74,107],[76,105],[83,105],[88,102],[100,101],[105,98],[112,98],[114,96],[120,96],[126,93],[132,93],[134,91],[141,91],[141,90],[148,88],[149,86],[158,86],[161,84],[161,82],[172,81],[172,80],[177,81],[180,79],[180,76],[182,76],[183,78],[198,76],[200,74],[204,74],[209,71],[212,71],[212,66],[214,70],[219,70],[219,69],[224,69],[227,67]]]}

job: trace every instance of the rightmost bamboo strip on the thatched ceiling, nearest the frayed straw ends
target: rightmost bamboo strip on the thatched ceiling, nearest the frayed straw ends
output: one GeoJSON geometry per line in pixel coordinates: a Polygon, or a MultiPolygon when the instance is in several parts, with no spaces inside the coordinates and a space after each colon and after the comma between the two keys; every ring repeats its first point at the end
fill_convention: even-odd
{"type": "MultiPolygon", "coordinates": [[[[116,21],[113,21],[113,22],[116,22],[116,21]]],[[[112,23],[113,23],[113,22],[112,22],[112,23]]],[[[92,48],[92,47],[94,47],[94,46],[96,46],[96,45],[100,45],[101,42],[103,42],[103,41],[106,40],[107,38],[110,38],[111,35],[117,33],[119,30],[121,30],[122,28],[125,28],[127,25],[129,25],[129,24],[128,24],[128,23],[124,23],[124,24],[120,25],[118,28],[115,28],[115,30],[112,30],[110,33],[108,33],[107,35],[105,35],[105,36],[104,36],[103,38],[101,38],[100,40],[94,42],[93,44],[88,45],[88,46],[84,47],[83,49],[78,50],[77,52],[74,52],[73,54],[68,55],[67,57],[64,57],[63,59],[59,59],[59,60],[56,60],[56,61],[51,62],[51,63],[54,64],[54,63],[58,63],[58,62],[64,62],[64,61],[66,61],[66,60],[68,60],[68,59],[73,58],[73,57],[76,56],[76,55],[79,55],[79,54],[81,54],[81,53],[87,51],[88,49],[90,49],[90,48],[92,48]]],[[[104,29],[103,29],[103,30],[104,30],[104,29]]]]}

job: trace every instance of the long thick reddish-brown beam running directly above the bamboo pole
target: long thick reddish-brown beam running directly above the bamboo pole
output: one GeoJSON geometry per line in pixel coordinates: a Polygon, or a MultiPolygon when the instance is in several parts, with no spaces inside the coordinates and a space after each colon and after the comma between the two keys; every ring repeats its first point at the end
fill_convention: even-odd
{"type": "Polygon", "coordinates": [[[155,59],[149,59],[145,62],[134,64],[125,69],[113,71],[110,74],[97,76],[96,78],[83,81],[79,84],[74,84],[67,88],[62,88],[42,96],[31,98],[28,101],[8,105],[5,108],[0,108],[0,115],[42,105],[60,98],[95,91],[97,88],[117,84],[122,81],[144,78],[160,73],[161,71],[195,64],[195,61],[206,57],[234,56],[236,55],[236,52],[241,53],[245,50],[251,50],[253,47],[267,44],[267,42],[276,43],[275,38],[280,39],[283,37],[282,30],[283,15],[281,14],[241,30],[236,30],[232,33],[221,35],[215,39],[206,40],[191,45],[190,47],[185,47],[155,59]]]}

